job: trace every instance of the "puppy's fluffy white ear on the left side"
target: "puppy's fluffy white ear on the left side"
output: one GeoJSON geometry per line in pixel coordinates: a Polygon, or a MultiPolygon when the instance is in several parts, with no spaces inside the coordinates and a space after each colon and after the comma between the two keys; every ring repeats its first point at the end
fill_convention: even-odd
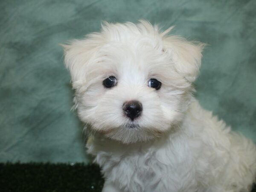
{"type": "Polygon", "coordinates": [[[73,40],[69,44],[61,45],[64,48],[64,62],[70,71],[73,86],[86,81],[86,69],[102,43],[99,38],[100,35],[95,33],[82,40],[73,40]]]}

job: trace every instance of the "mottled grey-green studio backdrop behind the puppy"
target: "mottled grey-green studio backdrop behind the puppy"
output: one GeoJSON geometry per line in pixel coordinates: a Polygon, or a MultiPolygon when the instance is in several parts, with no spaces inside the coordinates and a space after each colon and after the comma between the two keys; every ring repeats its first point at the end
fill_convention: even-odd
{"type": "Polygon", "coordinates": [[[256,0],[1,0],[0,161],[88,161],[58,45],[102,20],[146,19],[209,44],[204,108],[256,142],[256,0]]]}

